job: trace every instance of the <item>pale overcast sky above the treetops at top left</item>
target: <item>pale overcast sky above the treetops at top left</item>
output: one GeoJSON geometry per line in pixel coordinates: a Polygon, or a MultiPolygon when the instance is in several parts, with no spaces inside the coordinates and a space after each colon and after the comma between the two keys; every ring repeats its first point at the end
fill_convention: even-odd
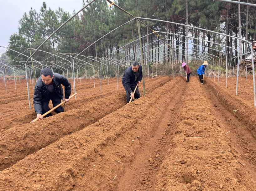
{"type": "MultiPolygon", "coordinates": [[[[82,8],[82,0],[0,0],[0,46],[7,46],[9,37],[18,32],[18,21],[32,7],[39,13],[43,2],[52,10],[63,8],[64,11],[73,13],[82,8]]],[[[4,48],[0,47],[0,54],[4,48]]]]}

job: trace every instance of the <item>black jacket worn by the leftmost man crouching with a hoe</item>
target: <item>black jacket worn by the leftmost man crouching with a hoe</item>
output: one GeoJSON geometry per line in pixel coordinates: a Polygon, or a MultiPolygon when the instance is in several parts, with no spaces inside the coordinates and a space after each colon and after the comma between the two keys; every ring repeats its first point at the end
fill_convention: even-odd
{"type": "MultiPolygon", "coordinates": [[[[54,77],[52,79],[54,90],[59,95],[60,99],[63,100],[63,88],[60,84],[64,85],[65,87],[65,99],[68,99],[71,95],[71,84],[63,75],[60,75],[58,73],[53,73],[54,77]]],[[[48,87],[44,82],[42,81],[42,78],[40,77],[37,82],[34,89],[34,97],[33,97],[33,103],[34,103],[34,109],[36,114],[42,113],[42,102],[45,101],[50,94],[50,91],[48,90],[48,87]]]]}

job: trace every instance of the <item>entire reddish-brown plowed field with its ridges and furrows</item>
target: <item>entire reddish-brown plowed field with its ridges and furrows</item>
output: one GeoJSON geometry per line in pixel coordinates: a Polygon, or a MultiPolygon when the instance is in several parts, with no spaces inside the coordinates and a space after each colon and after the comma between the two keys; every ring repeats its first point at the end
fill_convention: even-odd
{"type": "Polygon", "coordinates": [[[121,81],[104,81],[101,94],[99,80],[82,80],[65,112],[29,124],[26,81],[7,85],[0,191],[255,191],[253,95],[251,104],[210,79],[160,77],[126,104],[121,81]]]}

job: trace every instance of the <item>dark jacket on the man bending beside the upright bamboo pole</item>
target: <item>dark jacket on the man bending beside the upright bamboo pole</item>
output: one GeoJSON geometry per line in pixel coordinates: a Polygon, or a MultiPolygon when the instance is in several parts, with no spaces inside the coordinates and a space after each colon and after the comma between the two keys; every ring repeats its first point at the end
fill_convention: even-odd
{"type": "MultiPolygon", "coordinates": [[[[139,69],[138,69],[138,81],[142,80],[142,65],[139,65],[139,69]]],[[[133,74],[133,70],[132,70],[132,66],[130,66],[129,68],[127,68],[123,74],[123,78],[122,78],[122,84],[123,87],[128,91],[128,93],[131,93],[131,85],[133,85],[135,81],[135,75],[133,74]]]]}

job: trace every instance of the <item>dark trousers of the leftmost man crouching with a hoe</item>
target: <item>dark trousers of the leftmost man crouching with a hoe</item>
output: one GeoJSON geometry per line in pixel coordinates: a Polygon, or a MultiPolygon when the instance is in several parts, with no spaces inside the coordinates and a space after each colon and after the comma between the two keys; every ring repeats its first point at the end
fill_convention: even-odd
{"type": "MultiPolygon", "coordinates": [[[[61,103],[61,99],[60,97],[57,95],[56,92],[53,92],[53,93],[50,93],[48,98],[42,103],[42,109],[43,109],[43,113],[46,113],[47,111],[50,110],[50,107],[49,107],[49,102],[50,100],[52,101],[52,105],[53,107],[59,105],[61,103]]],[[[63,107],[59,106],[57,109],[54,110],[56,113],[60,113],[60,112],[64,112],[64,109],[63,107]]],[[[50,117],[52,116],[51,113],[47,114],[45,117],[50,117]]]]}

